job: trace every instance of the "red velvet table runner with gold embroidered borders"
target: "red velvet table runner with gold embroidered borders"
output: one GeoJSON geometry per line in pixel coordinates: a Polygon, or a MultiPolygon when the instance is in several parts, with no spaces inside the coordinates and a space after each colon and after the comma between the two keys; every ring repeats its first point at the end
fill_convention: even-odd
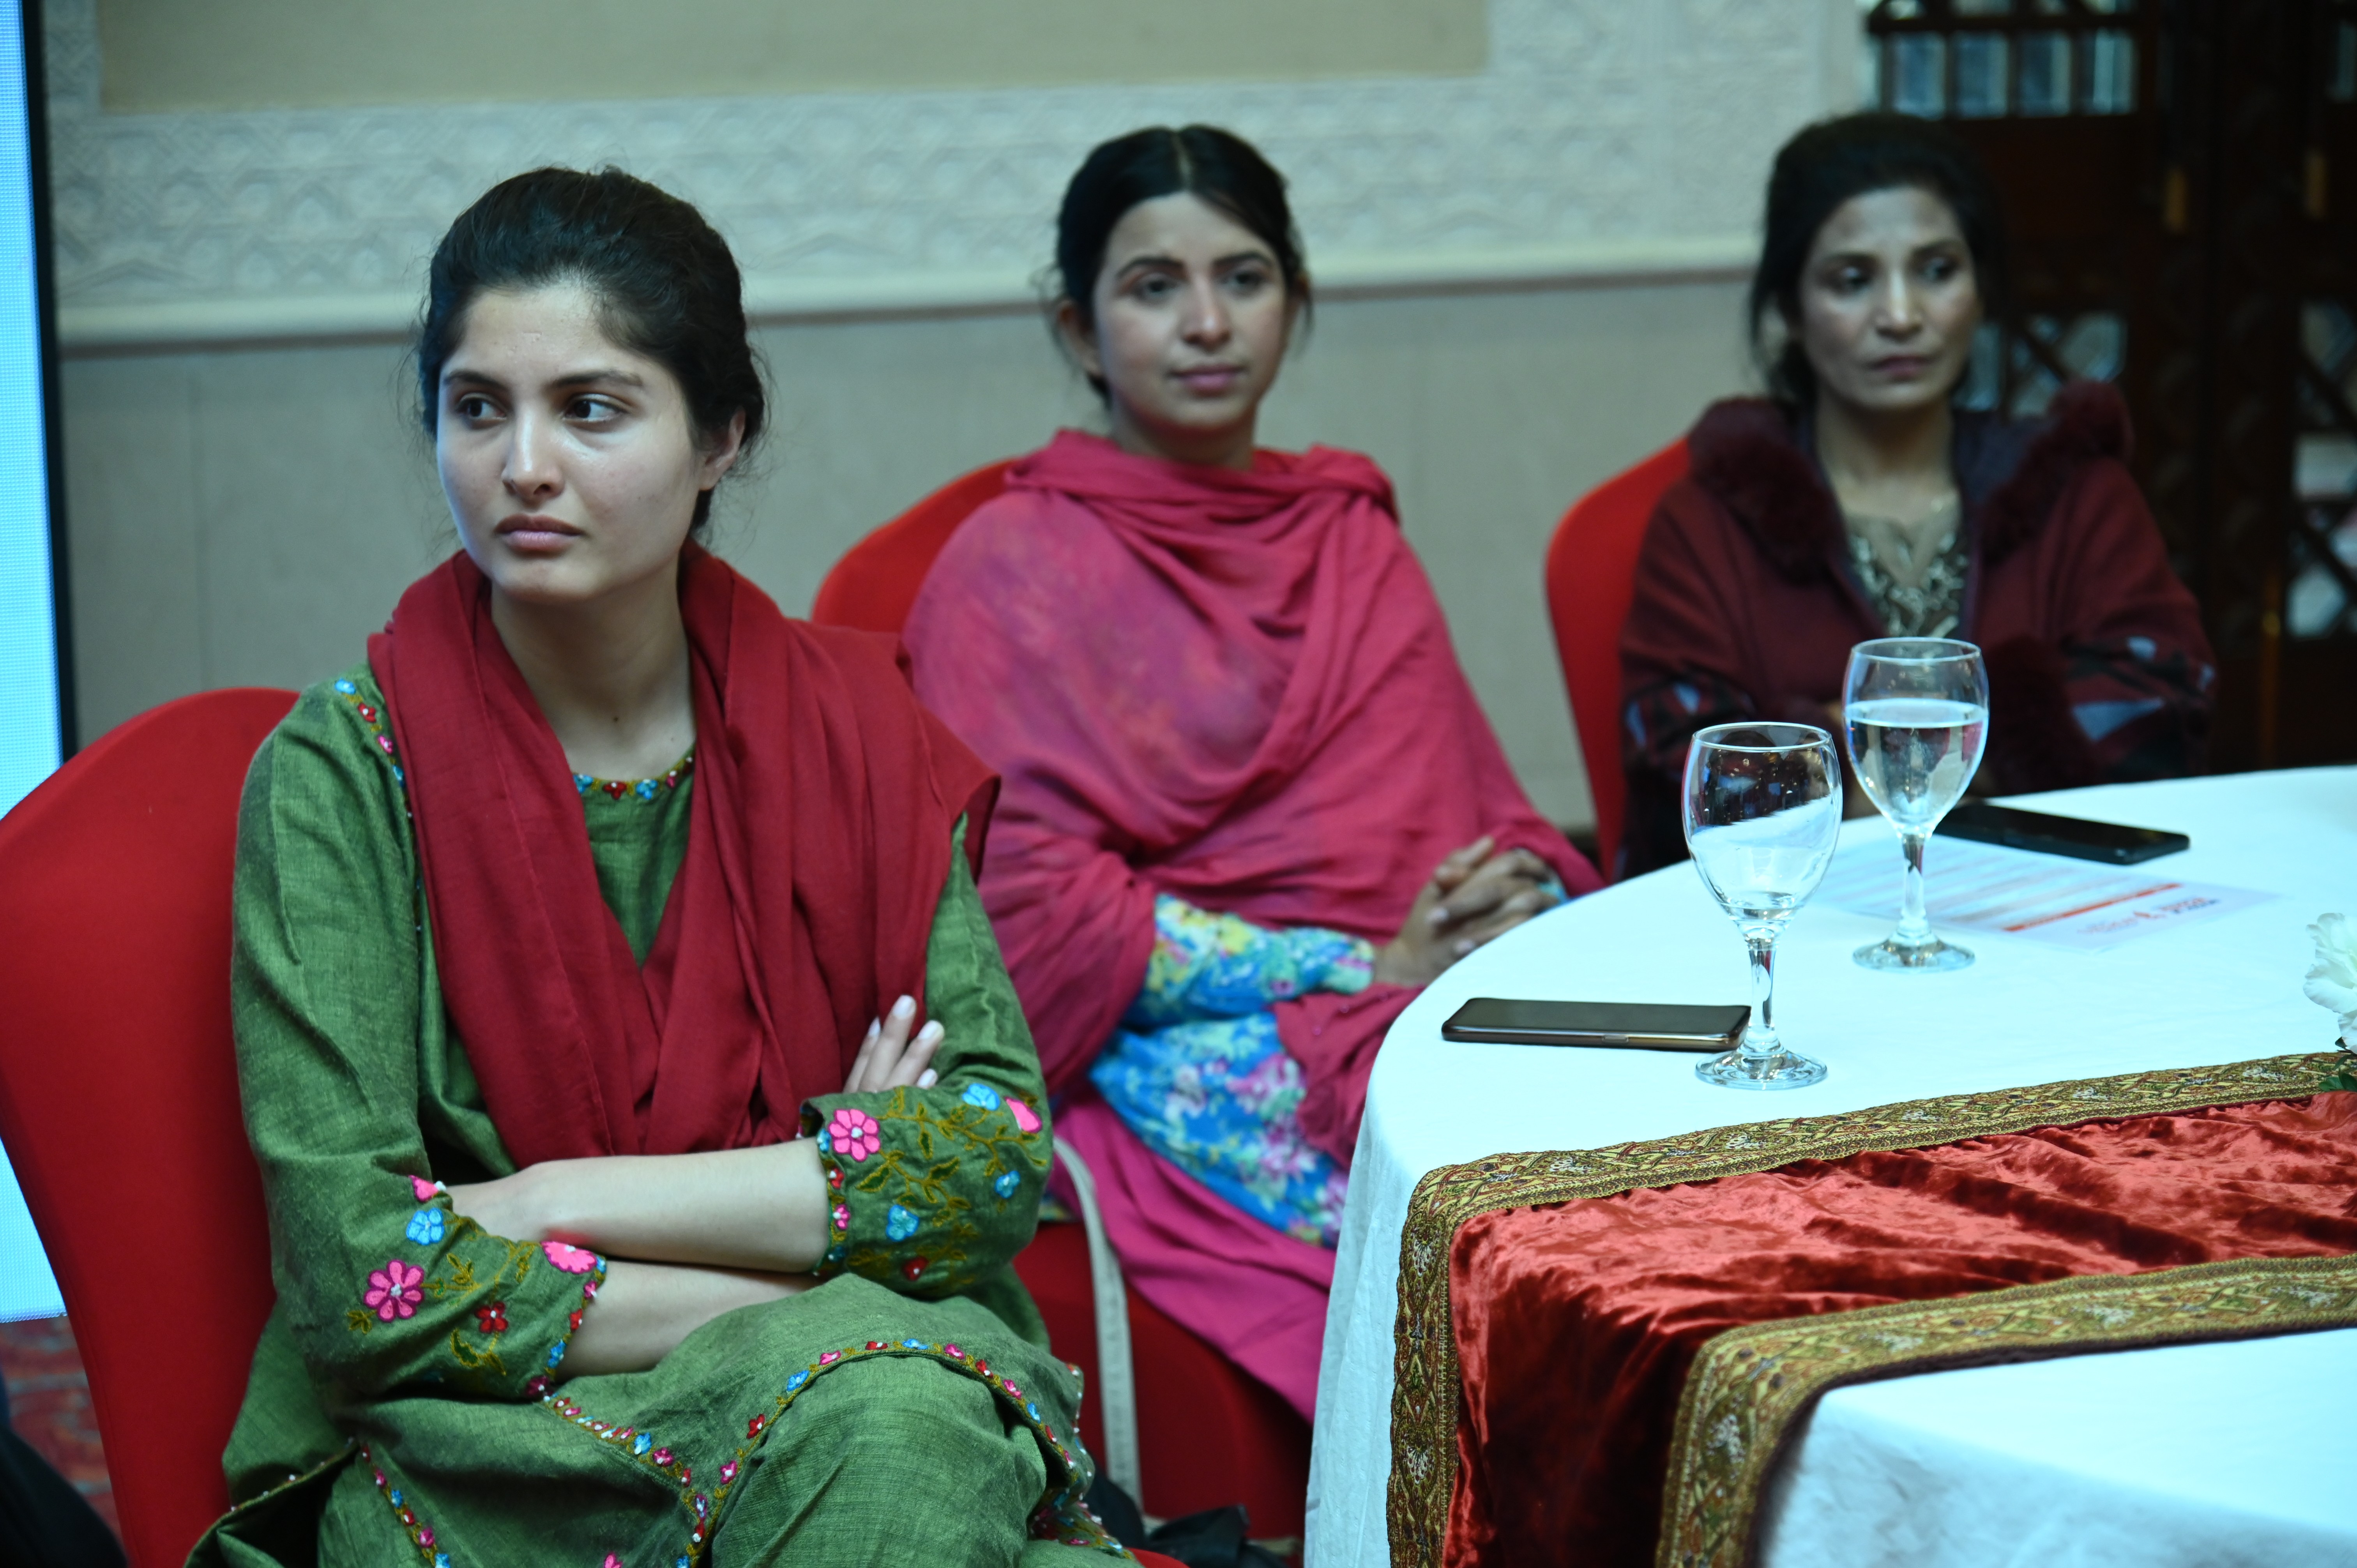
{"type": "Polygon", "coordinates": [[[2329,1070],[2135,1073],[1426,1174],[1393,1561],[1742,1563],[1782,1436],[1841,1382],[2357,1323],[2357,1094],[2310,1094],[2329,1070]]]}

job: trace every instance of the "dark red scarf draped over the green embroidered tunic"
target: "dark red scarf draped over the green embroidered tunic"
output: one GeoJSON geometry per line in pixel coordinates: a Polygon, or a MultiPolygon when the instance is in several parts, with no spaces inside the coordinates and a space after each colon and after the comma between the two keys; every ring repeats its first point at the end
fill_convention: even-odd
{"type": "Polygon", "coordinates": [[[688,849],[632,957],[556,733],[464,554],[368,641],[405,769],[443,1000],[519,1165],[794,1137],[924,953],[995,778],[917,707],[891,639],[787,620],[681,556],[695,700],[688,849]]]}

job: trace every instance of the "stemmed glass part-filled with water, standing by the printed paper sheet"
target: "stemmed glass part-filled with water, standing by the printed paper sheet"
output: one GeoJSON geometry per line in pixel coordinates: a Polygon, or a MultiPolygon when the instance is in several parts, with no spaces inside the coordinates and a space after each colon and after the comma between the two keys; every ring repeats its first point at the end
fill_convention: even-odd
{"type": "Polygon", "coordinates": [[[1907,856],[1900,929],[1857,950],[1867,969],[1963,969],[1970,950],[1933,936],[1923,913],[1923,842],[1980,769],[1989,672],[1952,637],[1876,637],[1850,648],[1841,717],[1857,788],[1890,818],[1907,856]]]}

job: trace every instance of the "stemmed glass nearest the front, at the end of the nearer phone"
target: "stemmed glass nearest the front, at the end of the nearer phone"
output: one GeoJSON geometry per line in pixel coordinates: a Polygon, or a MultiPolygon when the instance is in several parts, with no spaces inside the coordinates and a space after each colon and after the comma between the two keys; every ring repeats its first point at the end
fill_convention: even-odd
{"type": "Polygon", "coordinates": [[[1685,752],[1685,846],[1751,950],[1751,1023],[1739,1049],[1695,1066],[1728,1089],[1801,1089],[1824,1063],[1775,1033],[1775,938],[1808,903],[1841,837],[1841,759],[1810,724],[1714,724],[1685,752]]]}

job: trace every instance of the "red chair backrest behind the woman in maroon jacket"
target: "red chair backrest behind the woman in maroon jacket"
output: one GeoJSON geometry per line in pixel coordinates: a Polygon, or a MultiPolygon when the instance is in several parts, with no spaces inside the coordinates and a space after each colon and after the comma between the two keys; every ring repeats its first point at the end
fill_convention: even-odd
{"type": "Polygon", "coordinates": [[[1572,693],[1579,755],[1596,797],[1596,861],[1605,877],[1619,861],[1629,785],[1619,769],[1619,630],[1636,592],[1645,523],[1669,486],[1685,479],[1685,441],[1673,441],[1572,502],[1546,547],[1546,613],[1572,693]]]}

